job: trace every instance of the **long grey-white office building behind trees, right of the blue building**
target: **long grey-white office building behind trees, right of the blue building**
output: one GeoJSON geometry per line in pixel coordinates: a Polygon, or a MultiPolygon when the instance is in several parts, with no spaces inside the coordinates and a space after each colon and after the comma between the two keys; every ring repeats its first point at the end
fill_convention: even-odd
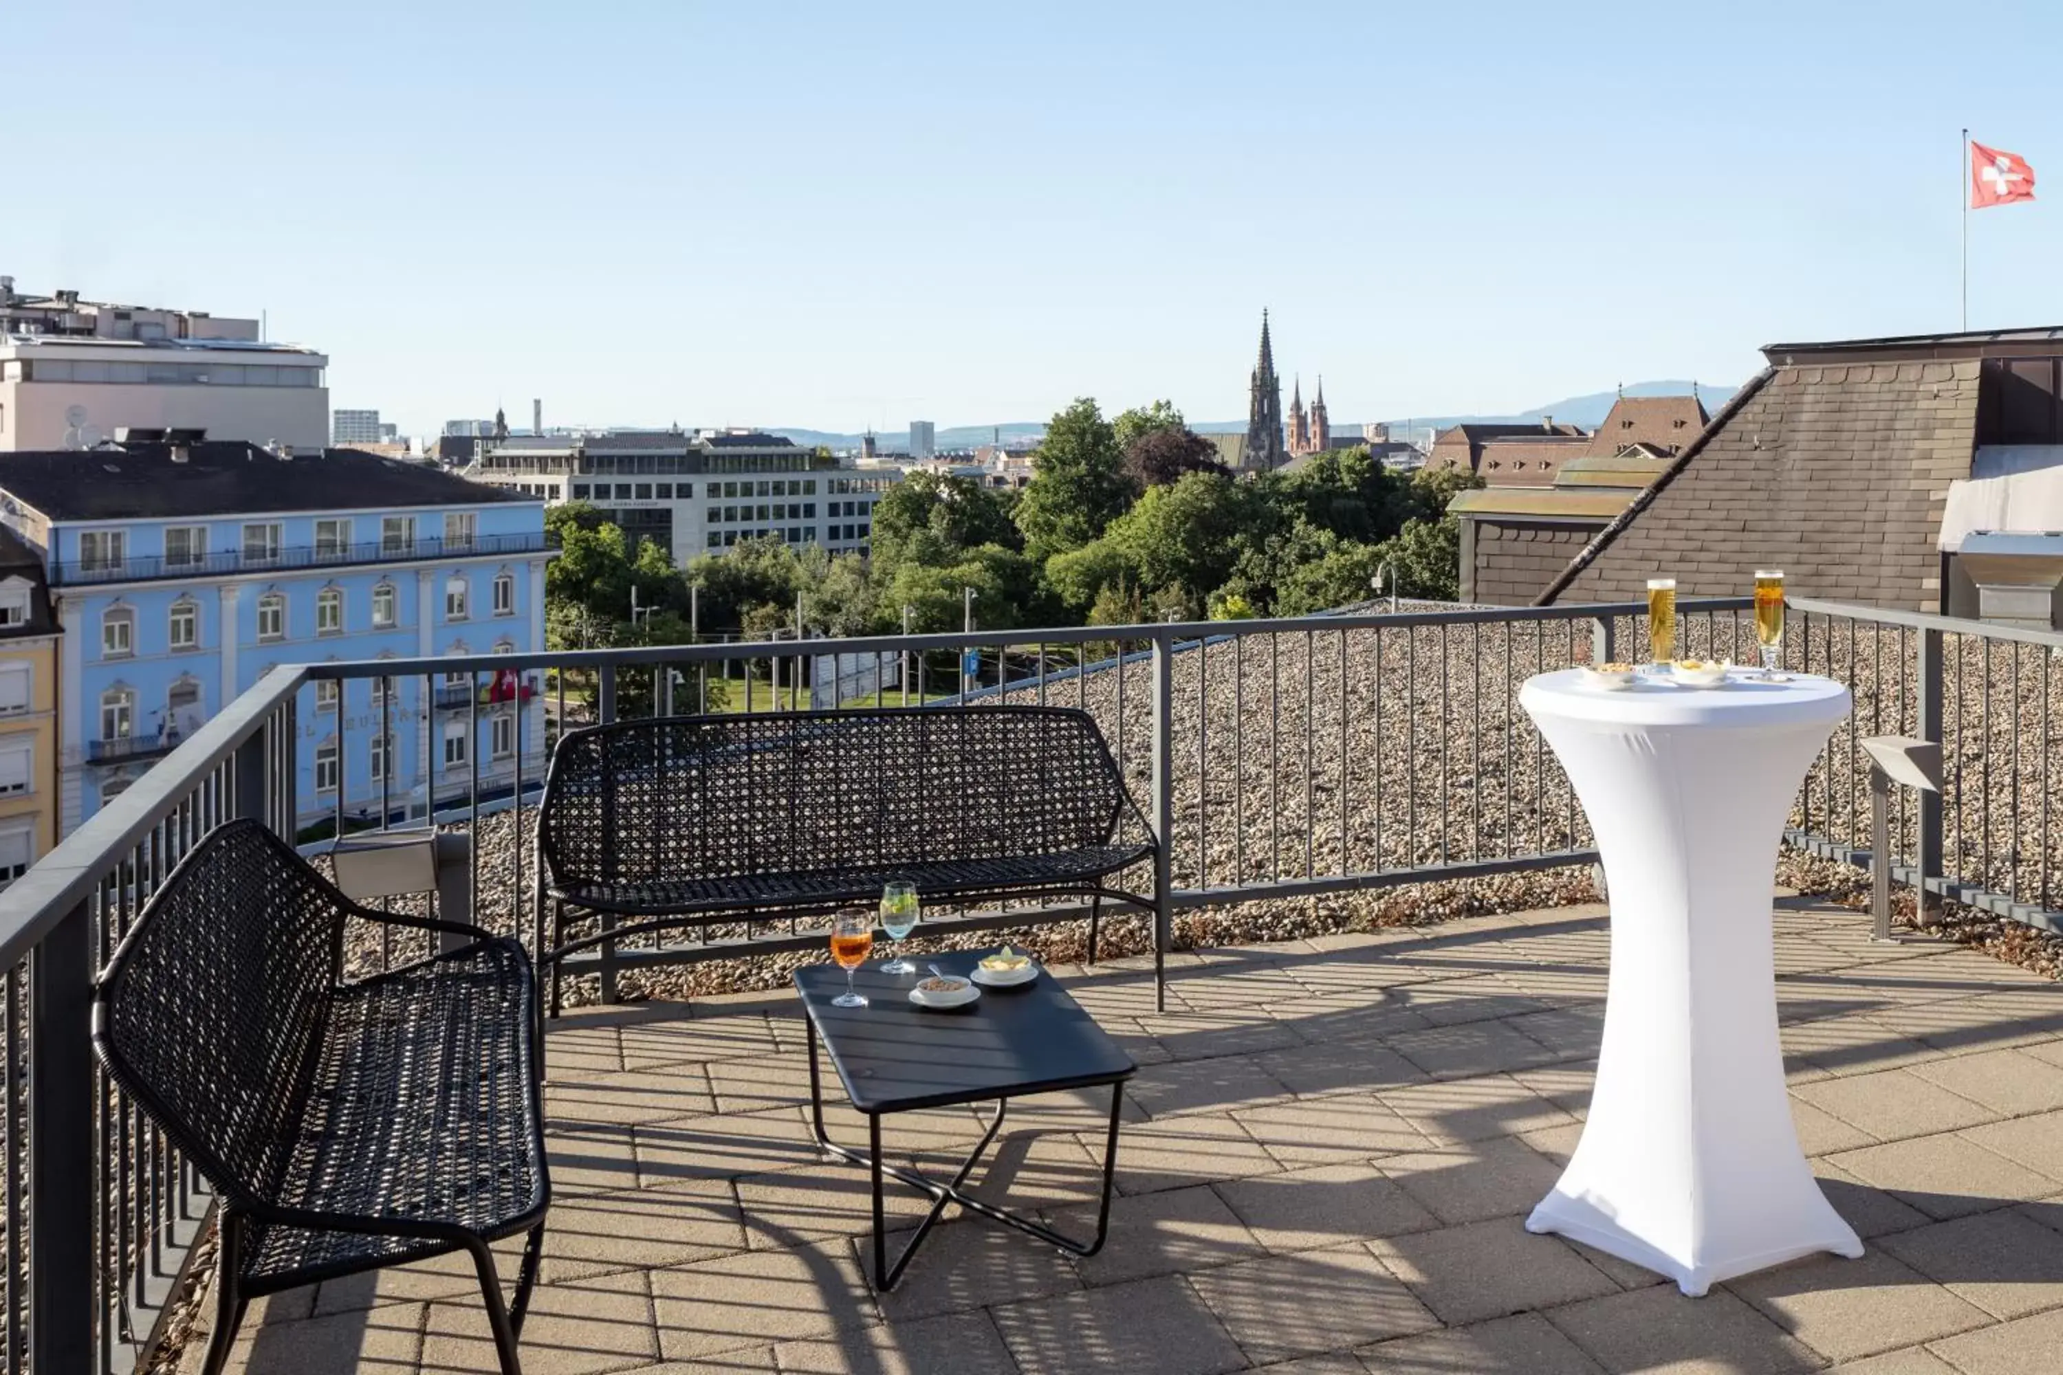
{"type": "Polygon", "coordinates": [[[765,536],[864,550],[899,468],[842,468],[829,454],[759,431],[514,435],[466,468],[474,482],[547,503],[586,501],[677,565],[765,536]]]}

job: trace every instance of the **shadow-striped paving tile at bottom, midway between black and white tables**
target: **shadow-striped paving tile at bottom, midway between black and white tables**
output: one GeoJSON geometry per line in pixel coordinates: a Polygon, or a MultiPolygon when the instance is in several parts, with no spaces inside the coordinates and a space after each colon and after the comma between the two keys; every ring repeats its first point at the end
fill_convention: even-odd
{"type": "Polygon", "coordinates": [[[1250,1260],[1188,1284],[1256,1365],[1440,1326],[1364,1245],[1250,1260]]]}

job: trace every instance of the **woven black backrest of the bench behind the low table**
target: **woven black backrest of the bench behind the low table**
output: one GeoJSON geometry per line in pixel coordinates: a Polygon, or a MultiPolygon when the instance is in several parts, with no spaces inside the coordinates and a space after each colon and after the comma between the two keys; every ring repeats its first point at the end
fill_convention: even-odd
{"type": "Polygon", "coordinates": [[[796,874],[1106,845],[1124,804],[1069,707],[683,715],[565,736],[541,841],[561,882],[796,874]]]}

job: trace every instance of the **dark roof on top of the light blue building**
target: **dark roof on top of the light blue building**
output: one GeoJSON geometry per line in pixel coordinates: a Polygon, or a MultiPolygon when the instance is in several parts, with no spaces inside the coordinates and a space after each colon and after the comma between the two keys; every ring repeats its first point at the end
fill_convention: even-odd
{"type": "Polygon", "coordinates": [[[538,501],[359,449],[301,449],[291,460],[256,443],[208,441],[173,462],[171,445],[0,454],[0,491],[50,519],[146,519],[256,511],[538,501]]]}

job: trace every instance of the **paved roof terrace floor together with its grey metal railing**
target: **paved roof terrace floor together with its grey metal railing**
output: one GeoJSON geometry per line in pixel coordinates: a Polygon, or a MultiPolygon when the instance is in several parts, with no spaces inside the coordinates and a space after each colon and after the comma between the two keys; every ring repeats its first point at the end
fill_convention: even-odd
{"type": "MultiPolygon", "coordinates": [[[[2030,928],[2063,930],[2049,825],[2063,635],[1791,608],[1787,666],[1846,682],[1855,711],[1799,792],[1780,874],[1832,874],[1846,884],[1836,897],[1853,895],[1855,870],[1836,866],[1877,858],[1861,740],[1921,736],[1943,746],[1943,787],[1894,798],[1890,870],[1950,932],[2005,919],[2005,944],[2024,944],[2030,928]]],[[[1747,660],[1745,612],[1745,600],[1685,602],[1685,649],[1747,660]]],[[[569,957],[567,1008],[547,1035],[555,1204],[524,1330],[536,1369],[1234,1371],[1339,1356],[1339,1369],[1774,1371],[1894,1350],[1914,1369],[2038,1356],[2036,1328],[2063,1309],[2051,1202],[2063,1198],[2063,990],[1943,936],[1875,944],[1844,901],[1776,899],[1776,1002],[1801,1144],[1869,1257],[1690,1301],[1522,1229],[1580,1130],[1609,928],[1586,901],[1589,823],[1516,691],[1613,658],[1642,629],[1632,606],[1409,608],[274,670],[0,893],[0,1367],[97,1375],[132,1369],[161,1338],[190,1340],[184,1323],[206,1305],[179,1295],[204,1282],[190,1262],[210,1255],[194,1243],[212,1198],[95,1066],[93,971],[212,827],[256,816],[293,835],[307,728],[347,752],[388,728],[301,719],[307,682],[417,676],[437,693],[454,666],[472,674],[454,709],[485,715],[505,672],[534,678],[547,703],[510,715],[493,787],[474,761],[437,773],[439,825],[472,837],[474,919],[532,952],[549,932],[538,781],[563,730],[788,711],[833,666],[846,691],[815,684],[833,707],[1089,711],[1172,880],[1174,919],[1112,924],[1095,967],[1081,965],[1081,907],[926,911],[935,932],[965,928],[939,940],[1003,928],[1036,948],[1143,1068],[1106,1251],[1077,1262],[947,1220],[887,1295],[854,1245],[875,1222],[864,1175],[819,1159],[800,1107],[809,1055],[784,971],[823,928],[739,921],[569,957]],[[1153,942],[1168,948],[1166,1012],[1153,942]]],[[[338,796],[336,829],[404,814],[394,802],[338,796]]],[[[782,806],[772,779],[763,806],[782,806]]],[[[365,936],[351,965],[425,948],[365,936]]],[[[1025,1101],[970,1187],[1062,1229],[1083,1210],[1093,1222],[1093,1115],[1067,1095],[1025,1101]]],[[[831,1132],[858,1121],[833,1109],[831,1132]]],[[[914,1159],[982,1132],[972,1115],[910,1121],[893,1144],[914,1159]]],[[[891,1225],[922,1220],[910,1198],[891,1196],[891,1225]]],[[[324,1282],[254,1315],[248,1336],[231,1369],[260,1375],[322,1361],[493,1369],[479,1290],[448,1264],[324,1282]]]]}

